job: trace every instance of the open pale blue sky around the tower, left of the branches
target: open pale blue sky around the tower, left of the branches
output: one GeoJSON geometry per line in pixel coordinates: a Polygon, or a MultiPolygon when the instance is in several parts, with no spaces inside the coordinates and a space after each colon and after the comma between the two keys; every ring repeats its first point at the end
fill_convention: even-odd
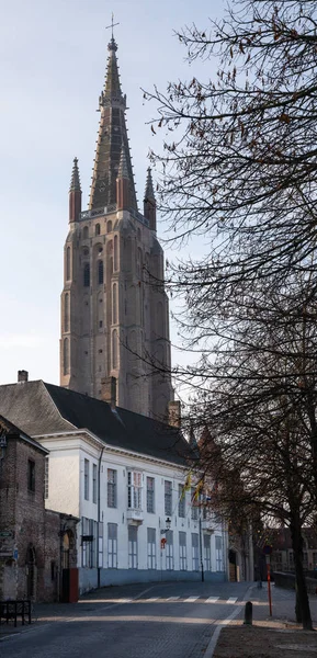
{"type": "MultiPolygon", "coordinates": [[[[58,384],[59,297],[72,158],[79,158],[87,205],[103,86],[111,12],[115,27],[139,207],[147,152],[159,148],[146,123],[155,106],[140,88],[196,75],[173,30],[205,29],[223,1],[0,0],[0,383],[58,384]]],[[[170,254],[169,254],[170,258],[170,254]]],[[[174,339],[174,333],[172,334],[174,339]]]]}

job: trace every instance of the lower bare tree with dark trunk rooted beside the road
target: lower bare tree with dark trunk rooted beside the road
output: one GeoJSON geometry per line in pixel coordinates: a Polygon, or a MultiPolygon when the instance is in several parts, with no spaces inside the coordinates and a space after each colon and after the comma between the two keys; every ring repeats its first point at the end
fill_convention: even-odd
{"type": "Polygon", "coordinates": [[[203,358],[190,410],[191,422],[207,428],[200,468],[217,483],[211,504],[236,523],[249,517],[290,526],[297,620],[310,628],[302,529],[317,506],[313,277],[296,276],[278,292],[259,284],[245,295],[239,290],[227,310],[231,337],[218,340],[215,360],[203,358]]]}

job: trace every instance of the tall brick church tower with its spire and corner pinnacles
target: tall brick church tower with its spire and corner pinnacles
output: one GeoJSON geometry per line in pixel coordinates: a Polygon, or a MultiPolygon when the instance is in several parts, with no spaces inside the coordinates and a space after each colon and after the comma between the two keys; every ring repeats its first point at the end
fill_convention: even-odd
{"type": "Polygon", "coordinates": [[[169,311],[156,200],[148,169],[138,212],[113,37],[107,48],[88,211],[81,209],[77,158],[69,189],[60,385],[167,420],[169,311]]]}

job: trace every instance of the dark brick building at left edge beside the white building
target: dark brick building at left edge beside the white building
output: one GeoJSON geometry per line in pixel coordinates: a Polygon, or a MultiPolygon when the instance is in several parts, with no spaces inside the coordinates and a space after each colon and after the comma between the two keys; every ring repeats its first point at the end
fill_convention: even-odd
{"type": "MultiPolygon", "coordinates": [[[[0,470],[0,600],[58,600],[65,533],[76,520],[45,510],[47,451],[19,435],[7,435],[0,470]]],[[[76,566],[76,541],[69,564],[76,566]]]]}

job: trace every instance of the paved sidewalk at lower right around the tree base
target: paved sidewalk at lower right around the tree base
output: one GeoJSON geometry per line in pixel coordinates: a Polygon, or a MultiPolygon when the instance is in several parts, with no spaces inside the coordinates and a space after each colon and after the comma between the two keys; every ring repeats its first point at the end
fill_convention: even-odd
{"type": "MultiPolygon", "coordinates": [[[[272,587],[272,617],[268,585],[253,589],[253,624],[244,614],[220,632],[213,658],[317,658],[317,634],[303,631],[295,619],[295,592],[272,587]]],[[[317,597],[309,597],[313,625],[317,629],[317,597]]]]}

